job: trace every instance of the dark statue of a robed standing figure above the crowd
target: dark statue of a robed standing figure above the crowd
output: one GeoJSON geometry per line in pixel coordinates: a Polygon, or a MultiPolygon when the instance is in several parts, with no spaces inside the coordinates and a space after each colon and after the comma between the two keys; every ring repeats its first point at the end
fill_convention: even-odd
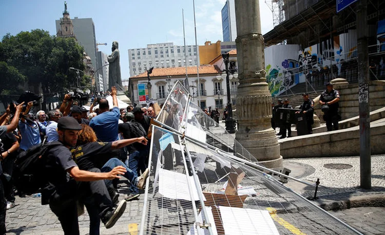
{"type": "Polygon", "coordinates": [[[117,41],[112,42],[112,53],[108,56],[108,90],[115,86],[122,89],[122,76],[120,74],[120,54],[117,41]]]}

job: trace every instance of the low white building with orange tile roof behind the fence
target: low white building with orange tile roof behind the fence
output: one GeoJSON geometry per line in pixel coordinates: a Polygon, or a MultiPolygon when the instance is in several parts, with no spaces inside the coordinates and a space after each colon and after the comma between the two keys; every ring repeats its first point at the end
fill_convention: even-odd
{"type": "MultiPolygon", "coordinates": [[[[229,68],[236,69],[238,65],[236,50],[229,52],[229,61],[229,68]]],[[[222,55],[217,56],[211,63],[211,65],[199,66],[199,85],[197,67],[187,67],[188,89],[192,96],[192,100],[195,103],[198,103],[198,100],[200,100],[199,103],[202,109],[210,106],[213,109],[223,109],[227,103],[227,89],[226,79],[223,79],[220,76],[225,69],[222,55]],[[200,97],[198,95],[197,86],[200,86],[200,97]]],[[[150,89],[147,87],[148,79],[146,72],[130,77],[128,85],[131,94],[130,98],[133,103],[142,106],[147,105],[149,102],[158,102],[159,104],[162,104],[166,100],[168,93],[171,91],[174,84],[177,81],[184,84],[185,78],[186,70],[184,67],[154,68],[150,74],[150,89]],[[146,90],[148,100],[152,99],[151,101],[141,100],[140,96],[144,95],[144,93],[142,93],[145,92],[144,90],[146,90]]],[[[229,78],[230,94],[232,102],[235,104],[238,79],[234,78],[234,76],[229,76],[229,78]]]]}

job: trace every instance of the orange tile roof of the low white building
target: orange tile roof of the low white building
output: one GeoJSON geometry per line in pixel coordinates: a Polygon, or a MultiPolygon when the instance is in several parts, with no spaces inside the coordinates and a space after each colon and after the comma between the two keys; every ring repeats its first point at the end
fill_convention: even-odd
{"type": "MultiPolygon", "coordinates": [[[[199,66],[199,74],[218,74],[218,70],[213,65],[199,66]]],[[[174,68],[153,68],[150,77],[165,77],[165,76],[183,76],[186,74],[186,67],[174,68]]],[[[196,75],[197,67],[187,67],[187,75],[196,75]]],[[[144,78],[147,77],[147,72],[141,73],[130,78],[144,78]]]]}

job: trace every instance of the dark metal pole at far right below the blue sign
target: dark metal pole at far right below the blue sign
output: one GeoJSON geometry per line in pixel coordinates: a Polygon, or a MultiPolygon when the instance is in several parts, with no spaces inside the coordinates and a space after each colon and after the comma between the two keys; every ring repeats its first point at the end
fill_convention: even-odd
{"type": "Polygon", "coordinates": [[[368,3],[357,3],[357,50],[358,50],[358,102],[360,125],[360,186],[372,187],[370,156],[370,106],[369,106],[369,65],[368,65],[368,3]]]}

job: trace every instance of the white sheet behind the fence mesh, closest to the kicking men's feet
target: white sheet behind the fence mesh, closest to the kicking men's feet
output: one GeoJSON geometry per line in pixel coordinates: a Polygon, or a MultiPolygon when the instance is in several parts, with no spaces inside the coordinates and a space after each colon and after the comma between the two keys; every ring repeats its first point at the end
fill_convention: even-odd
{"type": "MultiPolygon", "coordinates": [[[[188,180],[190,181],[192,188],[193,201],[199,201],[194,178],[189,176],[188,180]]],[[[159,193],[165,198],[191,201],[186,175],[178,172],[172,172],[171,170],[165,170],[162,168],[159,169],[159,193]]],[[[202,197],[203,200],[206,201],[203,195],[202,197]]]]}

